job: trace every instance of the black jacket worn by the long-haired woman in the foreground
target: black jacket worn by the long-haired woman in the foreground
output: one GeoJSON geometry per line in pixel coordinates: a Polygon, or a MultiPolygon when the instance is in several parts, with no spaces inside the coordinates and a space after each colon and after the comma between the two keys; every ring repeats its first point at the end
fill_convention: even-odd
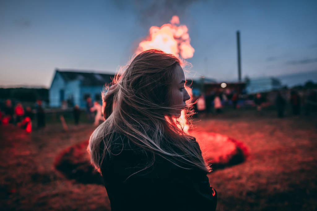
{"type": "Polygon", "coordinates": [[[143,170],[151,155],[121,138],[120,150],[112,151],[117,155],[106,156],[101,168],[112,211],[216,210],[217,192],[206,172],[180,168],[160,156],[143,170]]]}

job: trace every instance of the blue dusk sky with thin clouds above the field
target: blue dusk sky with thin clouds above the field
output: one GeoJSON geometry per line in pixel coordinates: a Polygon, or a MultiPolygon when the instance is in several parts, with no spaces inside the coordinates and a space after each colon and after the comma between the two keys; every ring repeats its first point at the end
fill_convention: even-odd
{"type": "Polygon", "coordinates": [[[0,86],[49,87],[55,68],[115,73],[151,26],[173,15],[189,29],[197,78],[317,70],[317,1],[0,0],[0,86]]]}

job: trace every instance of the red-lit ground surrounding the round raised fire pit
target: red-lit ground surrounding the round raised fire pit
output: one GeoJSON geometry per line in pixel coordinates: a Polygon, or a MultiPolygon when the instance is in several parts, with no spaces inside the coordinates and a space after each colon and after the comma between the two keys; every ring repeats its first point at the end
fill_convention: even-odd
{"type": "MultiPolygon", "coordinates": [[[[316,210],[317,115],[276,118],[251,109],[201,116],[197,131],[228,135],[249,147],[248,159],[209,174],[217,210],[316,210]]],[[[54,168],[63,149],[89,139],[94,126],[60,124],[24,133],[0,126],[2,210],[110,210],[102,185],[66,179],[54,168]]]]}

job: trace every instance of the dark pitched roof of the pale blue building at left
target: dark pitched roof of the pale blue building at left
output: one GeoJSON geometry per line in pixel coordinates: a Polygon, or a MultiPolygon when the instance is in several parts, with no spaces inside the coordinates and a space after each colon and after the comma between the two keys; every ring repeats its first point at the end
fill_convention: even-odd
{"type": "Polygon", "coordinates": [[[111,83],[114,78],[114,74],[96,72],[61,71],[56,69],[57,72],[65,82],[79,80],[84,86],[103,86],[105,83],[111,83]]]}

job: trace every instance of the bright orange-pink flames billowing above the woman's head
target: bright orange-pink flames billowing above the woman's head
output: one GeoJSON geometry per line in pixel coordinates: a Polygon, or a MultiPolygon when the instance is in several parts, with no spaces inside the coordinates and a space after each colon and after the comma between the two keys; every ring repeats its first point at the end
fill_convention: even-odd
{"type": "Polygon", "coordinates": [[[179,24],[178,16],[173,16],[170,22],[161,27],[152,26],[148,39],[139,43],[136,53],[139,54],[149,49],[159,49],[183,59],[193,57],[195,49],[190,44],[191,39],[187,26],[177,26],[179,24]]]}

